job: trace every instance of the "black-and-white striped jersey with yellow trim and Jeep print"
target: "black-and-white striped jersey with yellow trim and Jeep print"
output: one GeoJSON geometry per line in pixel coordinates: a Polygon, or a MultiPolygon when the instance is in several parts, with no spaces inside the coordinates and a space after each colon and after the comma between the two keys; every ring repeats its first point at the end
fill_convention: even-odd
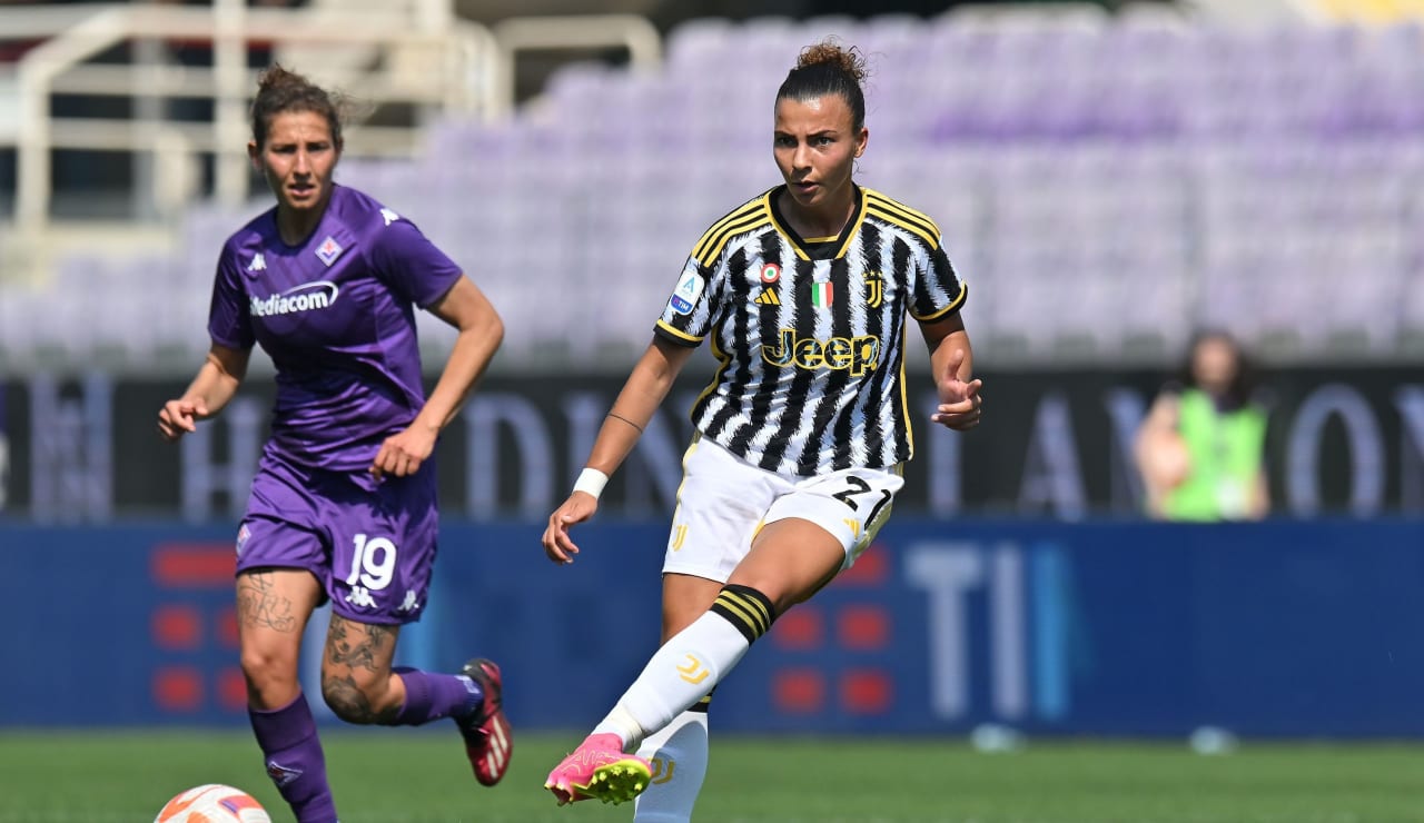
{"type": "Polygon", "coordinates": [[[904,379],[906,313],[933,320],[964,305],[926,215],[856,189],[834,238],[802,238],[776,187],[698,241],[656,333],[721,362],[692,407],[705,436],[753,466],[810,477],[886,468],[913,454],[904,379]]]}

